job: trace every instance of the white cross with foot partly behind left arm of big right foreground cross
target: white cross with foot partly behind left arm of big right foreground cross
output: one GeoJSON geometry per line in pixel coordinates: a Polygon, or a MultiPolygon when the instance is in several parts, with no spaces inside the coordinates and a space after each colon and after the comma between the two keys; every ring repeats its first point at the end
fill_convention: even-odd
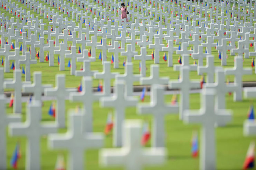
{"type": "Polygon", "coordinates": [[[199,88],[200,82],[190,81],[188,66],[184,66],[180,69],[180,77],[178,81],[169,81],[169,88],[180,89],[179,118],[182,120],[184,110],[189,109],[189,90],[190,88],[199,88]]]}

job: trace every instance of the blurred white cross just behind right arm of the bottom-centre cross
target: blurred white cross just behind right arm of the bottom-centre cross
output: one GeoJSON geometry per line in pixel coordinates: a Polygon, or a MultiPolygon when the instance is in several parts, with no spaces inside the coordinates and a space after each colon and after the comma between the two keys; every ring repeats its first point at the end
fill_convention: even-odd
{"type": "Polygon", "coordinates": [[[140,114],[153,114],[152,146],[165,147],[164,116],[170,113],[178,113],[179,107],[165,104],[164,88],[159,84],[151,86],[150,99],[149,104],[137,105],[137,110],[140,114]]]}

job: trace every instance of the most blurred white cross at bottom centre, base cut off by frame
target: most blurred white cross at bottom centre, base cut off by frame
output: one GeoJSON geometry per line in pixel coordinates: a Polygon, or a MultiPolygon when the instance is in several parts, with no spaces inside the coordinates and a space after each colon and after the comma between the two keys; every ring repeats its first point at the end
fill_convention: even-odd
{"type": "Polygon", "coordinates": [[[123,147],[101,149],[100,163],[105,166],[124,166],[126,170],[142,170],[144,166],[164,163],[164,148],[141,148],[141,128],[140,120],[126,120],[122,127],[123,147]]]}

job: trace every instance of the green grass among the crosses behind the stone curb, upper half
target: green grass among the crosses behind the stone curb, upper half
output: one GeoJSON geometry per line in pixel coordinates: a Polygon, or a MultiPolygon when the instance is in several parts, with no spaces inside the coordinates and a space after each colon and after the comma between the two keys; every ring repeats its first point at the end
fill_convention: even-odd
{"type": "MultiPolygon", "coordinates": [[[[30,13],[34,13],[33,10],[30,10],[29,8],[26,8],[25,6],[21,5],[20,2],[16,1],[15,4],[18,4],[19,7],[22,7],[22,9],[26,9],[27,11],[30,11],[30,13]]],[[[46,3],[44,3],[44,4],[46,4],[46,3]]],[[[158,4],[156,4],[156,5],[158,5],[158,4]]],[[[48,6],[49,5],[47,5],[47,7],[48,6]]],[[[50,8],[53,9],[53,7],[50,7],[50,8]]],[[[103,8],[105,8],[105,7],[103,7],[103,8]]],[[[135,9],[135,11],[136,10],[137,9],[135,9]]],[[[6,16],[8,15],[9,18],[13,17],[12,14],[9,14],[9,12],[7,13],[2,8],[0,9],[0,12],[5,13],[6,16]]],[[[220,12],[220,9],[219,9],[219,12],[220,12]]],[[[61,12],[61,14],[62,14],[62,12],[61,12]]],[[[202,13],[202,14],[204,14],[204,13],[202,13]]],[[[39,19],[43,19],[43,17],[40,16],[40,14],[34,13],[34,15],[35,15],[35,17],[38,16],[39,19]]],[[[64,14],[64,17],[67,17],[67,16],[68,16],[67,14],[64,14]]],[[[225,14],[225,16],[226,16],[226,14],[225,14]]],[[[95,15],[93,15],[93,17],[95,17],[95,15]]],[[[236,17],[236,15],[235,15],[235,17],[236,17]]],[[[68,19],[72,19],[72,17],[68,17],[68,19]]],[[[49,25],[49,22],[48,22],[47,19],[43,19],[43,20],[46,23],[45,29],[47,29],[47,26],[49,25]]],[[[170,22],[170,21],[166,21],[166,22],[170,22]]],[[[76,25],[78,25],[78,22],[75,22],[75,23],[76,23],[76,25]]],[[[164,23],[162,23],[162,24],[164,24],[164,23]]],[[[85,27],[85,25],[83,24],[83,28],[84,27],[85,27]]],[[[23,30],[23,31],[27,31],[27,30],[23,30]]],[[[72,31],[74,31],[74,30],[72,30],[72,31]]],[[[128,36],[128,34],[126,34],[126,35],[128,36]]],[[[78,36],[78,34],[77,34],[77,36],[78,36]]],[[[39,37],[39,34],[38,34],[38,37],[39,37]]],[[[138,36],[136,36],[136,37],[138,37],[138,36]]],[[[100,41],[100,39],[101,39],[101,37],[98,36],[98,42],[100,41]]],[[[190,36],[190,39],[192,40],[191,36],[190,36]]],[[[252,38],[250,38],[250,39],[252,39],[252,38]]],[[[45,35],[45,43],[46,43],[46,41],[47,41],[47,35],[45,35]]],[[[62,40],[60,39],[59,41],[61,42],[62,40]]],[[[107,43],[109,41],[110,41],[110,39],[107,39],[107,43]]],[[[217,40],[214,40],[214,41],[216,42],[217,40]]],[[[154,39],[153,39],[153,42],[154,42],[154,39]]],[[[9,43],[11,43],[11,42],[9,42],[9,43]]],[[[167,45],[167,42],[165,42],[165,40],[163,40],[163,43],[164,43],[164,45],[167,45]]],[[[68,42],[68,46],[70,44],[72,44],[72,42],[68,42]]],[[[227,44],[229,44],[229,42],[227,42],[227,44]]],[[[21,43],[19,45],[15,44],[16,47],[20,47],[20,45],[21,45],[21,43]]],[[[76,46],[77,46],[77,53],[78,53],[80,44],[76,44],[76,46]]],[[[178,45],[174,45],[174,46],[178,46],[178,45]]],[[[188,47],[188,48],[190,48],[190,47],[188,47]]],[[[23,47],[24,50],[28,51],[27,48],[29,48],[29,46],[23,47]]],[[[38,49],[39,48],[36,48],[36,51],[38,49]]],[[[86,49],[89,49],[89,47],[87,46],[86,49]]],[[[32,49],[32,50],[34,50],[34,49],[32,49]]],[[[153,50],[154,49],[147,49],[148,54],[151,54],[151,52],[153,50]]],[[[140,47],[138,45],[136,45],[136,51],[138,52],[138,54],[140,53],[140,47]]],[[[253,51],[253,47],[249,47],[249,51],[253,51]]],[[[91,62],[91,70],[98,70],[99,72],[102,71],[102,64],[101,64],[101,61],[98,59],[98,55],[99,55],[100,52],[101,52],[101,50],[96,50],[96,61],[91,62]]],[[[44,54],[40,54],[40,55],[43,55],[44,58],[45,58],[46,53],[47,53],[47,51],[45,51],[44,54]]],[[[107,53],[107,60],[108,61],[111,61],[112,54],[113,53],[107,53]]],[[[224,66],[224,68],[230,68],[230,67],[234,66],[234,56],[231,56],[230,52],[227,52],[227,54],[228,54],[227,66],[224,66]]],[[[159,63],[159,65],[160,65],[160,75],[161,76],[168,76],[170,79],[177,79],[177,77],[179,75],[179,72],[174,71],[172,67],[167,67],[167,62],[165,62],[163,60],[163,55],[164,55],[164,52],[160,52],[160,54],[159,54],[159,56],[160,56],[160,63],[159,63]]],[[[215,59],[214,59],[215,66],[221,66],[221,60],[218,58],[218,51],[215,49],[215,47],[212,47],[212,55],[215,57],[215,59]]],[[[173,54],[173,64],[178,64],[178,57],[179,57],[179,55],[173,54]]],[[[224,57],[224,56],[222,56],[222,57],[224,57]]],[[[1,56],[0,56],[0,59],[2,59],[1,56]]],[[[31,81],[32,81],[32,73],[34,71],[42,71],[43,83],[53,84],[53,86],[54,86],[55,85],[55,75],[59,74],[59,73],[62,73],[62,74],[66,74],[66,82],[67,82],[66,86],[67,87],[78,87],[79,84],[80,84],[81,77],[75,77],[75,76],[70,75],[70,68],[67,67],[69,59],[65,59],[65,71],[59,71],[58,55],[57,54],[54,55],[54,59],[55,60],[54,60],[54,66],[53,67],[49,67],[48,62],[39,63],[39,60],[37,60],[37,62],[38,62],[37,64],[31,65],[31,81]]],[[[126,59],[126,56],[119,56],[119,61],[120,61],[119,62],[119,68],[114,69],[113,64],[112,64],[111,71],[123,74],[124,71],[125,71],[125,67],[123,66],[124,59],[126,59]]],[[[251,60],[252,60],[251,57],[249,59],[244,59],[243,66],[244,67],[251,67],[250,66],[251,60]]],[[[140,74],[139,62],[140,62],[139,60],[133,60],[132,59],[133,73],[134,74],[140,74]]],[[[193,64],[194,60],[192,58],[190,58],[189,62],[190,62],[190,64],[193,64]]],[[[11,63],[12,63],[12,61],[10,61],[10,64],[11,63]]],[[[146,67],[147,67],[146,76],[150,75],[150,65],[153,64],[153,63],[154,63],[153,60],[146,61],[146,67]]],[[[206,64],[206,59],[204,59],[204,65],[205,64],[206,64]]],[[[77,62],[76,63],[76,70],[80,70],[81,65],[82,65],[82,62],[77,62]]],[[[21,65],[21,69],[22,69],[22,66],[25,67],[25,65],[21,65]]],[[[190,75],[191,75],[191,77],[190,77],[191,79],[200,79],[200,76],[197,75],[197,71],[191,71],[190,75]]],[[[12,78],[13,77],[12,70],[10,71],[10,73],[5,73],[4,77],[5,78],[12,78]]],[[[231,82],[234,80],[234,76],[227,76],[227,78],[229,78],[229,80],[231,82]]],[[[25,79],[24,75],[23,75],[23,79],[25,79]]],[[[94,81],[93,81],[93,86],[94,87],[98,86],[98,81],[99,80],[94,79],[94,81]]],[[[243,81],[256,81],[256,76],[255,76],[254,71],[252,71],[252,75],[243,76],[243,81]]],[[[138,84],[139,84],[139,82],[134,82],[134,85],[138,85],[138,84]]],[[[113,81],[112,81],[112,85],[113,85],[113,81]]],[[[8,91],[8,90],[11,90],[11,89],[7,88],[5,90],[8,91]]]]}

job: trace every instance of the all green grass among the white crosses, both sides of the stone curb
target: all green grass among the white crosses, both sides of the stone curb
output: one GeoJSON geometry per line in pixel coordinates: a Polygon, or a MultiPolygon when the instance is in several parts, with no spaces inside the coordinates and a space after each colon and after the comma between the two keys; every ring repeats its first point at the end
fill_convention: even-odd
{"type": "MultiPolygon", "coordinates": [[[[19,7],[22,7],[22,9],[26,9],[26,11],[30,11],[31,13],[34,13],[29,8],[26,8],[21,5],[20,2],[15,1],[15,4],[18,4],[19,7]]],[[[46,4],[45,2],[43,2],[46,4]]],[[[156,4],[158,6],[158,4],[156,4]]],[[[47,5],[47,7],[50,7],[47,5]]],[[[104,7],[105,8],[105,7],[104,7]]],[[[103,9],[104,9],[103,8],[103,9]]],[[[50,7],[50,9],[54,9],[53,7],[50,7]]],[[[80,10],[80,9],[79,9],[80,10]]],[[[136,11],[137,9],[135,9],[136,11]]],[[[247,10],[247,9],[244,9],[247,10]]],[[[56,9],[55,9],[56,11],[56,9]]],[[[143,11],[143,10],[142,10],[143,11]]],[[[0,8],[0,12],[5,13],[5,16],[13,17],[12,14],[9,14],[9,12],[6,12],[2,8],[0,8]]],[[[220,13],[220,9],[219,9],[220,13]]],[[[60,13],[62,14],[62,12],[60,13]]],[[[202,13],[204,14],[204,13],[202,13]]],[[[223,13],[222,13],[223,14],[223,13]]],[[[198,15],[198,14],[197,14],[198,15]]],[[[226,16],[226,14],[224,13],[226,16]]],[[[236,17],[237,14],[235,14],[236,17]]],[[[38,16],[39,20],[43,19],[39,14],[34,13],[34,16],[38,16]]],[[[67,14],[64,14],[64,17],[67,17],[67,14]]],[[[93,15],[93,18],[95,15],[93,15]]],[[[199,15],[197,16],[199,17],[199,15]]],[[[68,19],[72,19],[71,17],[68,17],[68,19]]],[[[47,26],[49,25],[49,22],[47,19],[43,19],[46,23],[45,29],[47,29],[47,26]]],[[[169,20],[166,22],[170,22],[169,20]]],[[[226,21],[225,21],[226,22],[226,21]]],[[[78,22],[75,22],[78,25],[78,22]]],[[[164,24],[164,23],[162,23],[164,24]]],[[[254,24],[254,22],[253,22],[254,24]]],[[[83,28],[85,26],[83,25],[83,28]]],[[[15,29],[15,28],[13,28],[15,29]]],[[[23,30],[27,31],[27,30],[23,30]]],[[[74,30],[72,30],[74,31],[74,30]]],[[[119,32],[120,33],[120,32],[119,32]]],[[[77,34],[78,35],[78,34],[77,34]]],[[[37,35],[39,37],[39,34],[37,35]]],[[[87,35],[88,37],[88,35],[87,35]]],[[[136,37],[137,38],[137,37],[136,37]]],[[[45,36],[45,43],[46,43],[47,37],[45,36]]],[[[100,41],[101,37],[98,37],[98,42],[100,41]]],[[[190,39],[192,37],[190,36],[190,39]]],[[[252,39],[252,38],[250,38],[252,39]]],[[[109,42],[110,39],[107,39],[107,42],[109,42]]],[[[215,40],[216,42],[217,40],[215,40]]],[[[61,39],[60,39],[61,42],[61,39]]],[[[9,42],[11,44],[11,42],[9,42]]],[[[164,45],[167,45],[165,41],[163,41],[164,45]]],[[[68,42],[68,46],[71,44],[71,42],[68,42]]],[[[20,47],[21,44],[15,44],[16,47],[20,47]]],[[[169,44],[170,45],[170,44],[169,44]]],[[[237,45],[237,44],[236,44],[237,45]]],[[[77,52],[79,49],[80,44],[76,44],[77,46],[77,52]]],[[[174,45],[178,46],[178,45],[174,45]]],[[[191,47],[191,46],[190,46],[191,47]]],[[[188,47],[188,48],[190,48],[188,47]]],[[[23,50],[27,50],[29,46],[24,47],[23,50]]],[[[88,47],[86,47],[88,49],[88,47]]],[[[194,48],[194,47],[193,47],[194,48]]],[[[32,49],[34,50],[34,49],[32,49]]],[[[38,48],[35,49],[36,51],[38,48]]],[[[147,49],[148,54],[151,54],[152,50],[154,49],[147,49]]],[[[13,50],[12,50],[13,51],[13,50]]],[[[136,45],[136,51],[139,54],[140,47],[136,45]]],[[[253,51],[253,47],[249,48],[249,51],[253,51]]],[[[98,55],[101,52],[101,50],[96,50],[96,61],[91,62],[91,70],[98,70],[99,72],[102,72],[102,64],[101,61],[98,59],[98,55]]],[[[40,54],[41,56],[46,55],[47,51],[44,52],[44,54],[40,54]]],[[[20,53],[21,54],[21,53],[20,53]]],[[[111,55],[112,53],[107,53],[107,60],[111,61],[111,55]]],[[[172,67],[167,67],[167,62],[164,62],[163,60],[164,52],[160,52],[160,75],[161,76],[168,76],[170,79],[177,79],[179,72],[174,71],[172,67]]],[[[215,66],[221,65],[221,60],[218,58],[218,51],[212,47],[212,55],[214,56],[214,64],[215,66]]],[[[173,64],[178,64],[178,57],[179,55],[174,54],[173,55],[173,64]]],[[[225,56],[222,56],[225,57],[225,56]]],[[[32,79],[32,73],[34,71],[41,71],[42,72],[42,82],[44,84],[53,84],[55,86],[55,76],[56,74],[66,74],[66,87],[78,87],[80,84],[81,77],[71,76],[70,75],[70,68],[67,67],[68,65],[68,59],[65,59],[65,71],[59,71],[58,66],[58,55],[54,55],[54,66],[49,67],[48,62],[39,63],[39,60],[37,60],[37,64],[31,65],[31,81],[32,79]]],[[[2,59],[2,56],[0,56],[0,59],[2,59]]],[[[112,72],[118,72],[120,74],[124,73],[125,67],[123,66],[123,61],[125,59],[125,56],[119,56],[119,67],[118,69],[114,69],[113,65],[111,66],[112,72]]],[[[244,59],[243,66],[251,67],[251,60],[244,59]]],[[[133,60],[133,73],[134,74],[140,74],[139,72],[139,61],[133,60]]],[[[193,64],[194,60],[190,58],[189,60],[190,64],[193,64]]],[[[10,61],[12,63],[12,61],[10,61]]],[[[153,64],[153,60],[146,61],[146,67],[148,68],[146,71],[146,76],[150,75],[150,65],[153,64]]],[[[80,66],[82,63],[77,62],[76,63],[76,70],[80,70],[80,66]]],[[[206,60],[204,60],[204,65],[206,64],[206,60]]],[[[1,65],[0,65],[1,66],[1,65]]],[[[21,65],[25,67],[25,65],[21,65]]],[[[228,52],[228,59],[227,59],[227,66],[224,66],[224,68],[231,68],[234,66],[234,56],[231,56],[228,52]]],[[[25,79],[25,76],[22,75],[22,79],[25,79]]],[[[13,71],[11,70],[10,73],[4,73],[4,78],[12,78],[13,77],[13,71]]],[[[234,76],[227,76],[227,79],[229,78],[232,82],[234,80],[234,76]]],[[[196,71],[190,72],[190,79],[200,79],[200,76],[197,75],[196,71]]],[[[93,80],[93,86],[98,86],[97,79],[93,80]]],[[[245,75],[243,76],[243,81],[256,81],[256,75],[254,71],[252,71],[252,75],[245,75]]],[[[135,82],[134,85],[138,85],[139,82],[135,82]]],[[[113,85],[113,80],[112,80],[113,85]]],[[[12,90],[12,89],[5,89],[5,91],[12,90]]],[[[171,101],[171,95],[166,95],[166,102],[170,103],[171,101]]],[[[227,103],[227,109],[233,110],[233,120],[232,122],[228,123],[225,127],[218,127],[216,128],[216,163],[217,163],[217,169],[218,170],[238,170],[241,169],[243,166],[243,162],[246,156],[246,152],[248,149],[248,146],[250,144],[250,141],[255,140],[255,137],[244,137],[243,136],[243,122],[247,118],[247,111],[248,107],[250,106],[251,101],[249,99],[243,99],[241,102],[233,102],[232,100],[233,96],[226,96],[226,103],[227,103]]],[[[149,97],[146,96],[145,102],[149,102],[149,97]]],[[[190,95],[190,108],[191,109],[199,109],[200,108],[200,96],[199,94],[191,94],[190,95]]],[[[44,102],[44,105],[42,107],[42,121],[54,121],[52,117],[48,115],[48,109],[50,107],[51,102],[46,101],[44,102]]],[[[12,108],[9,108],[8,105],[6,112],[8,114],[12,113],[12,108]]],[[[69,109],[76,108],[77,106],[81,106],[81,103],[79,102],[69,102],[66,101],[66,113],[68,113],[69,109]]],[[[25,121],[25,110],[26,110],[26,103],[22,103],[22,120],[25,121]]],[[[98,102],[95,102],[93,104],[93,131],[94,132],[103,132],[104,127],[106,124],[107,114],[109,111],[113,112],[113,108],[101,108],[98,102]]],[[[67,115],[68,118],[68,115],[67,115]]],[[[138,115],[136,108],[127,108],[126,109],[126,119],[142,119],[145,121],[149,121],[150,129],[152,126],[152,116],[150,115],[138,115]]],[[[68,121],[68,120],[66,120],[68,121]]],[[[155,169],[173,169],[173,170],[198,170],[199,169],[199,158],[192,158],[191,157],[191,135],[194,130],[197,130],[199,132],[200,136],[200,125],[185,125],[182,121],[179,120],[178,114],[170,114],[165,116],[165,135],[166,135],[166,149],[167,149],[167,161],[165,164],[159,167],[147,167],[146,170],[155,170],[155,169]]],[[[66,132],[67,129],[59,129],[60,133],[66,132]]],[[[8,130],[7,130],[8,132],[8,130]]],[[[20,142],[21,146],[21,159],[18,161],[18,169],[23,170],[25,169],[25,150],[26,150],[26,137],[10,137],[7,134],[7,165],[8,170],[12,169],[10,166],[10,160],[13,153],[13,150],[15,148],[15,145],[17,142],[20,142]]],[[[200,141],[199,141],[200,142],[200,141]]],[[[146,145],[146,147],[150,147],[150,142],[146,145]]],[[[47,136],[42,136],[41,138],[41,169],[42,170],[49,170],[54,169],[57,155],[58,153],[63,153],[65,156],[65,163],[67,164],[67,153],[68,151],[65,150],[51,150],[47,146],[47,136]]],[[[112,147],[112,134],[105,136],[104,139],[104,147],[110,148],[112,147]]],[[[98,163],[98,149],[94,150],[88,150],[85,152],[85,164],[86,169],[88,170],[97,170],[97,169],[105,169],[105,170],[121,170],[122,167],[119,168],[102,168],[99,166],[98,163]]]]}

